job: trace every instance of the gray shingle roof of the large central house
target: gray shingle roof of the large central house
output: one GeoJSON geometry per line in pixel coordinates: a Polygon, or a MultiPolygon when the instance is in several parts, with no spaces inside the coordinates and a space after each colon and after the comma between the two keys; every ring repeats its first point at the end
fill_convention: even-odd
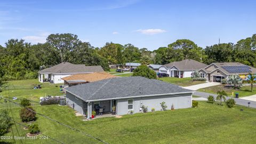
{"type": "Polygon", "coordinates": [[[153,94],[192,92],[178,85],[145,77],[115,77],[66,88],[86,101],[153,94]]]}

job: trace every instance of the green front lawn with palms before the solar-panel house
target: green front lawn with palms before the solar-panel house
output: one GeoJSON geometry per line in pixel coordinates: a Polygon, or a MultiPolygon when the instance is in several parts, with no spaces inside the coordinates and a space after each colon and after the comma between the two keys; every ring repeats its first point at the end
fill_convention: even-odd
{"type": "Polygon", "coordinates": [[[217,91],[221,91],[221,90],[224,90],[229,96],[232,95],[232,92],[234,92],[234,96],[235,96],[235,93],[239,93],[239,97],[247,97],[247,96],[256,94],[255,85],[253,86],[253,92],[251,92],[250,85],[242,86],[241,89],[239,90],[235,90],[232,87],[227,87],[225,85],[215,85],[215,86],[199,89],[198,91],[216,94],[217,91]]]}

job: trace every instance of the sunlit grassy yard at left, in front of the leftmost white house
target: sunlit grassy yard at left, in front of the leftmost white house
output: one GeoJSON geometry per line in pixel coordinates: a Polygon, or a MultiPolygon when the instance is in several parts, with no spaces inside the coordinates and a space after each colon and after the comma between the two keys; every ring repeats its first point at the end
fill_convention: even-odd
{"type": "Polygon", "coordinates": [[[0,95],[5,97],[10,95],[11,98],[29,98],[30,100],[39,101],[39,97],[44,97],[45,95],[63,95],[60,91],[60,85],[62,84],[40,83],[38,79],[6,81],[2,82],[2,92],[0,92],[0,95]],[[41,85],[42,89],[33,89],[38,84],[41,85]],[[6,87],[6,89],[3,87],[6,87]]]}

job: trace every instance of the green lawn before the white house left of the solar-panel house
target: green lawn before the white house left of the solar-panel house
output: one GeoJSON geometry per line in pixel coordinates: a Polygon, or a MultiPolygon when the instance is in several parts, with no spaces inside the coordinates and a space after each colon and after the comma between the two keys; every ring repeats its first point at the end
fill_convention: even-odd
{"type": "Polygon", "coordinates": [[[203,81],[191,81],[190,77],[186,78],[178,78],[178,77],[161,77],[159,78],[161,81],[180,85],[180,86],[190,86],[190,85],[196,85],[196,84],[202,84],[205,83],[203,81]]]}

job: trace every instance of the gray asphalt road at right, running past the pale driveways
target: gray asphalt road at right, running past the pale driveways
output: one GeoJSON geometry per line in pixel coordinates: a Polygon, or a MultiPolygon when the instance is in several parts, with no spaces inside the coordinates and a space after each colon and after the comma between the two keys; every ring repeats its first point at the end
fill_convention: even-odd
{"type": "MultiPolygon", "coordinates": [[[[197,95],[198,97],[208,98],[209,95],[212,95],[215,99],[217,97],[217,94],[212,93],[206,93],[206,92],[195,92],[193,95],[197,95]]],[[[231,97],[227,97],[227,99],[230,99],[231,97]]],[[[244,99],[238,99],[234,98],[237,105],[246,106],[248,107],[248,102],[250,103],[250,107],[256,108],[256,101],[250,101],[250,100],[244,100],[244,99]]]]}

